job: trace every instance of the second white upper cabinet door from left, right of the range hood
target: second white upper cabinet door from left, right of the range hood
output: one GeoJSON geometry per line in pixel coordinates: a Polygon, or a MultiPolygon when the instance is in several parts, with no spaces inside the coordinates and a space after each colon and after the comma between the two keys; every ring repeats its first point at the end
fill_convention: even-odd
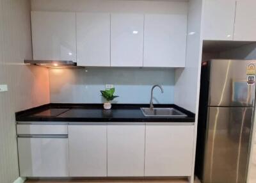
{"type": "Polygon", "coordinates": [[[110,14],[77,13],[77,65],[110,66],[110,14]]]}

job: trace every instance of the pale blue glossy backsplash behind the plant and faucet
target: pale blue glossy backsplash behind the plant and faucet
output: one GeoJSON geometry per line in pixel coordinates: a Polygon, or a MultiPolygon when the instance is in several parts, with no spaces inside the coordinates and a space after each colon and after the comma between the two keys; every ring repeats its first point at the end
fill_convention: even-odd
{"type": "Polygon", "coordinates": [[[84,68],[49,69],[51,102],[102,103],[100,90],[106,84],[114,84],[119,95],[113,103],[147,104],[153,84],[161,84],[154,90],[154,103],[173,104],[174,69],[166,68],[84,68]]]}

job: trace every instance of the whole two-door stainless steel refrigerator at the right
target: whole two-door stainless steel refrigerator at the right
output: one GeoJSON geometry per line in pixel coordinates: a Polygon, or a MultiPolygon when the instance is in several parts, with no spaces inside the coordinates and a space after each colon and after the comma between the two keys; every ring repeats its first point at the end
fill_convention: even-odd
{"type": "Polygon", "coordinates": [[[246,182],[255,66],[255,60],[202,63],[195,167],[202,183],[246,182]]]}

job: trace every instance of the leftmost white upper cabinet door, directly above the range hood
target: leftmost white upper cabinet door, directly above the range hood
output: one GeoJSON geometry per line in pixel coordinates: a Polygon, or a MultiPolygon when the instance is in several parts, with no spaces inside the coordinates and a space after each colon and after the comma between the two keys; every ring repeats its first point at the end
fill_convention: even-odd
{"type": "Polygon", "coordinates": [[[76,61],[76,14],[31,12],[34,60],[76,61]]]}

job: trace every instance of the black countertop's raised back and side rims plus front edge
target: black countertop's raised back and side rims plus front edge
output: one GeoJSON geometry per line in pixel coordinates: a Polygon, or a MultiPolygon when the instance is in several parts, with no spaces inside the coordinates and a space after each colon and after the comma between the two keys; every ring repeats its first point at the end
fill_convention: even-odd
{"type": "MultiPolygon", "coordinates": [[[[140,107],[148,107],[148,104],[112,104],[112,109],[138,109],[140,107]]],[[[38,107],[33,107],[24,111],[15,113],[16,122],[19,124],[31,124],[31,123],[45,123],[45,124],[77,124],[77,123],[195,123],[195,114],[190,111],[179,107],[175,104],[155,104],[154,107],[173,107],[178,109],[187,116],[182,118],[173,117],[152,117],[143,116],[141,118],[60,118],[58,116],[31,116],[40,111],[56,108],[68,108],[68,109],[102,109],[102,104],[58,104],[50,103],[38,107]]],[[[103,111],[103,109],[102,109],[103,111]]]]}

